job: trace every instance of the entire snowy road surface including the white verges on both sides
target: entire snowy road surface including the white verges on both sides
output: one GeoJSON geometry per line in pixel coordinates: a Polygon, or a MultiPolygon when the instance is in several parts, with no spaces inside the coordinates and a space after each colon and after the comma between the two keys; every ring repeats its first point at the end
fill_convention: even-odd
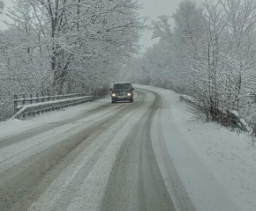
{"type": "Polygon", "coordinates": [[[255,156],[244,136],[187,121],[172,91],[135,88],[132,104],[108,98],[0,124],[0,210],[253,210],[255,156]],[[215,142],[229,136],[239,149],[215,142]],[[217,163],[219,153],[229,157],[217,163]]]}

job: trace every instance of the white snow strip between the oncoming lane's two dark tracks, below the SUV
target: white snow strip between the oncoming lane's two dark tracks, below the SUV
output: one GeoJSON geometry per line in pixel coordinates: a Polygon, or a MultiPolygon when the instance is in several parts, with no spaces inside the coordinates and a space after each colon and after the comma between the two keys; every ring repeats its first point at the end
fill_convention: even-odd
{"type": "Polygon", "coordinates": [[[116,113],[119,109],[121,109],[121,107],[111,110],[106,109],[103,112],[90,115],[86,120],[81,119],[82,122],[79,124],[65,124],[62,127],[57,127],[55,130],[49,130],[48,132],[35,135],[33,138],[24,140],[23,142],[17,142],[9,147],[0,149],[0,173],[8,170],[11,166],[19,164],[24,159],[34,156],[34,154],[44,149],[48,149],[57,142],[61,142],[67,136],[79,133],[81,129],[86,129],[87,124],[90,124],[92,120],[99,120],[102,117],[111,115],[111,113],[116,113]]]}

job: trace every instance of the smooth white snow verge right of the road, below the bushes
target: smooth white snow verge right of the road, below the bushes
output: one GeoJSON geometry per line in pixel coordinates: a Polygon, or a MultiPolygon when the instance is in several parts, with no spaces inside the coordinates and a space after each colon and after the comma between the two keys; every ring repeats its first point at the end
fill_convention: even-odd
{"type": "Polygon", "coordinates": [[[161,124],[169,155],[200,211],[256,210],[256,149],[252,138],[215,123],[192,121],[173,91],[141,86],[162,96],[161,124]]]}

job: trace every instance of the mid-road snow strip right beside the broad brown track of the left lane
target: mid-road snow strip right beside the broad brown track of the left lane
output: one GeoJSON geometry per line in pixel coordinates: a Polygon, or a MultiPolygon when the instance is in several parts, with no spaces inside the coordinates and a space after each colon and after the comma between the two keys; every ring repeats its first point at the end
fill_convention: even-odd
{"type": "MultiPolygon", "coordinates": [[[[144,95],[144,94],[143,94],[144,95]]],[[[144,101],[144,99],[143,99],[144,101]]],[[[143,101],[139,105],[143,105],[143,101]]],[[[139,106],[136,106],[137,110],[139,106]]],[[[94,142],[80,153],[67,168],[53,181],[39,200],[29,208],[30,211],[55,210],[63,211],[69,206],[75,194],[79,191],[87,175],[93,170],[94,164],[99,160],[109,143],[115,138],[119,130],[124,127],[127,120],[134,113],[125,113],[124,118],[117,120],[104,133],[94,139],[94,142]],[[63,185],[64,184],[64,185],[63,185]],[[68,193],[68,194],[67,194],[68,193]]]]}

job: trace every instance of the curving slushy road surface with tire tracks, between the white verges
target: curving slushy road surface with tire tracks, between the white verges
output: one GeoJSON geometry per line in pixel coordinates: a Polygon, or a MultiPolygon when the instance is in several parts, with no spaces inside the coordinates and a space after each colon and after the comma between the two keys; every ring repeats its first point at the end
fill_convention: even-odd
{"type": "MultiPolygon", "coordinates": [[[[175,210],[151,139],[156,93],[0,139],[1,210],[175,210]]],[[[159,149],[163,150],[163,149],[159,149]]]]}

